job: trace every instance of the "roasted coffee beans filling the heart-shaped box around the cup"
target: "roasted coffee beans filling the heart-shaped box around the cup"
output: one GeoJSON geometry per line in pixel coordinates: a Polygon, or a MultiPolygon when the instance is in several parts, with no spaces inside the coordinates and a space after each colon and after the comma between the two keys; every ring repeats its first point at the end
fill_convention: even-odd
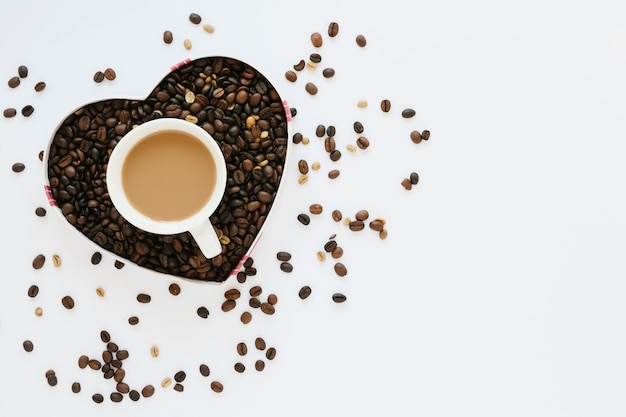
{"type": "Polygon", "coordinates": [[[143,101],[107,100],[71,114],[54,134],[48,177],[67,221],[103,249],[159,272],[221,282],[265,222],[287,142],[283,102],[262,74],[236,59],[201,58],[171,72],[143,101]],[[134,126],[160,117],[202,127],[226,159],[226,192],[211,216],[223,249],[213,259],[204,257],[189,233],[163,236],[137,229],[109,198],[111,151],[134,126]]]}

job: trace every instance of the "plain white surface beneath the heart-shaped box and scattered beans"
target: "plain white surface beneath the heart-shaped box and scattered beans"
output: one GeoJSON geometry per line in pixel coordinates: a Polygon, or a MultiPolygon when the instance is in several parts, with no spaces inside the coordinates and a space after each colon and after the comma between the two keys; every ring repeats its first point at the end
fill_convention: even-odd
{"type": "Polygon", "coordinates": [[[25,119],[0,120],[3,290],[0,292],[0,413],[64,415],[396,415],[396,416],[623,416],[626,388],[622,183],[626,28],[618,1],[406,2],[129,2],[110,0],[2,2],[0,107],[32,104],[25,119]],[[197,12],[204,33],[187,16],[197,12]],[[309,36],[339,22],[325,36],[321,68],[332,80],[283,74],[314,52],[309,36]],[[174,32],[172,45],[163,30],[174,32]],[[354,37],[362,33],[367,47],[354,37]],[[193,42],[186,51],[182,40],[193,42]],[[55,126],[81,104],[108,97],[143,97],[186,58],[225,54],[270,78],[296,107],[294,131],[311,138],[293,146],[282,195],[254,252],[259,284],[279,296],[277,312],[222,314],[223,287],[183,282],[172,297],[168,277],[105,256],[90,264],[92,247],[46,206],[37,154],[55,126]],[[27,79],[6,80],[21,64],[27,79]],[[97,70],[117,79],[95,84],[97,70]],[[307,79],[320,92],[304,92],[307,79]],[[32,86],[48,87],[35,94],[32,86]],[[392,111],[378,107],[389,98],[392,111]],[[356,102],[370,105],[357,109],[356,102]],[[400,117],[412,107],[417,116],[400,117]],[[334,124],[344,149],[365,125],[371,147],[332,164],[314,135],[334,124]],[[430,129],[414,145],[413,129],[430,129]],[[295,161],[322,169],[299,186],[295,161]],[[24,162],[14,174],[11,165],[24,162]],[[330,181],[332,165],[341,176],[330,181]],[[411,171],[420,184],[400,186],[411,171]],[[296,215],[319,202],[324,213],[308,228],[296,215]],[[389,238],[358,234],[330,219],[332,209],[362,208],[387,219],[389,238]],[[349,273],[337,277],[315,252],[338,234],[349,273]],[[293,254],[294,272],[275,254],[293,254]],[[48,258],[42,270],[31,261],[48,258]],[[62,257],[61,268],[51,263],[62,257]],[[26,296],[36,283],[37,298],[26,296]],[[297,291],[308,284],[310,299],[297,291]],[[95,289],[102,286],[105,298],[95,289]],[[335,291],[348,301],[330,301],[335,291]],[[138,304],[139,292],[152,303],[138,304]],[[60,299],[71,294],[76,308],[60,299]],[[195,310],[206,305],[207,320],[195,310]],[[44,316],[33,311],[41,306],[44,316]],[[127,318],[140,317],[132,327],[127,318]],[[110,381],[80,370],[79,355],[103,349],[101,329],[130,351],[127,381],[157,386],[150,399],[121,404],[105,396],[110,381]],[[254,370],[254,338],[278,354],[254,370]],[[35,350],[26,353],[22,341],[35,350]],[[251,347],[244,374],[232,369],[235,345],[251,347]],[[160,347],[153,359],[149,348],[160,347]],[[205,379],[200,363],[210,365],[205,379]],[[53,368],[59,384],[47,385],[53,368]],[[158,385],[187,371],[185,391],[158,385]],[[224,383],[215,394],[210,380],[224,383]],[[78,380],[83,390],[73,394],[78,380]]]}

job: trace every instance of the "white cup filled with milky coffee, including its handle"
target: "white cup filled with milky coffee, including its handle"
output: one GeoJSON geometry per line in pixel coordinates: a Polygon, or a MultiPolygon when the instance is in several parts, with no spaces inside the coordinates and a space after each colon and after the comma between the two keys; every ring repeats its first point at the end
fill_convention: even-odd
{"type": "Polygon", "coordinates": [[[115,207],[131,224],[151,233],[189,231],[207,258],[221,252],[209,222],[226,187],[219,145],[201,127],[182,119],[145,122],[113,149],[107,186],[115,207]]]}

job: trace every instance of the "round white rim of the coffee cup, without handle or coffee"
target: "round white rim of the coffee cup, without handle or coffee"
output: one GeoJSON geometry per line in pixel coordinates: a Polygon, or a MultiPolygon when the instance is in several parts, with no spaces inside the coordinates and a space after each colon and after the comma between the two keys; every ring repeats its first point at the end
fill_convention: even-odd
{"type": "Polygon", "coordinates": [[[213,214],[222,200],[226,190],[226,180],[226,162],[221,148],[215,139],[200,126],[177,118],[159,118],[135,126],[113,148],[106,168],[107,191],[117,211],[135,227],[146,232],[162,235],[186,232],[207,222],[209,216],[213,214]],[[217,175],[215,190],[211,198],[194,215],[182,220],[157,221],[151,219],[135,209],[125,198],[123,191],[121,172],[124,157],[146,136],[164,130],[183,132],[196,137],[207,146],[215,160],[217,175]]]}

